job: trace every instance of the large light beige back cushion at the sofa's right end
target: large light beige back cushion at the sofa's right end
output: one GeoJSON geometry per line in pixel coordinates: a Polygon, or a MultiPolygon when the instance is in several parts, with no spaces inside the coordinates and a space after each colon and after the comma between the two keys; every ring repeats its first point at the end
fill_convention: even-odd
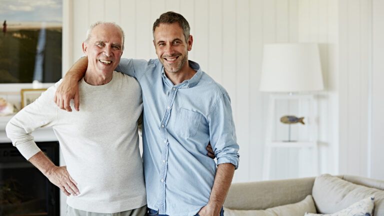
{"type": "Polygon", "coordinates": [[[333,213],[366,197],[375,197],[374,216],[384,215],[384,191],[342,180],[336,176],[317,176],[312,188],[317,212],[333,213]]]}

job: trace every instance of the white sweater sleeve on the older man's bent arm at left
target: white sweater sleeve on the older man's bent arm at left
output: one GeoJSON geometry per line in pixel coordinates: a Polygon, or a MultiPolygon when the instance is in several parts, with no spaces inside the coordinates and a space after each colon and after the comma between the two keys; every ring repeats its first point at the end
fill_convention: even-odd
{"type": "Polygon", "coordinates": [[[6,135],[26,159],[40,151],[31,135],[32,131],[39,127],[51,126],[57,118],[58,108],[53,102],[54,92],[55,88],[49,88],[6,124],[6,135]]]}

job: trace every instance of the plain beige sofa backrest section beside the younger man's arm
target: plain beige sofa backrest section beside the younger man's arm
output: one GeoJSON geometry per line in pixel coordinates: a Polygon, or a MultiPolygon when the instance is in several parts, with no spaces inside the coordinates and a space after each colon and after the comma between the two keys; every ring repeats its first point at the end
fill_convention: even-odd
{"type": "Polygon", "coordinates": [[[301,201],[312,194],[314,177],[231,184],[224,207],[265,209],[301,201]]]}

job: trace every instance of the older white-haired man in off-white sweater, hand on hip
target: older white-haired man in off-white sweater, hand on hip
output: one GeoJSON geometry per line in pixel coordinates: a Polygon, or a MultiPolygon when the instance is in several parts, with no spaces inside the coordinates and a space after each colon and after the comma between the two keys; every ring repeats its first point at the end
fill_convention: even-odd
{"type": "Polygon", "coordinates": [[[82,44],[89,63],[78,82],[81,111],[70,113],[55,105],[57,82],[6,126],[7,136],[21,154],[69,195],[67,215],[146,213],[137,134],[141,89],[134,78],[113,71],[123,42],[118,25],[91,25],[82,44]],[[55,166],[33,141],[30,133],[44,126],[52,126],[66,167],[55,166]]]}

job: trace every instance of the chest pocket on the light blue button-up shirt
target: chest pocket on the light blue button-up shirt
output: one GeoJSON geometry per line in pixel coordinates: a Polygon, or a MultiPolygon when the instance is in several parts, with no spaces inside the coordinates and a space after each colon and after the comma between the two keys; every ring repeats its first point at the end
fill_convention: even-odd
{"type": "Polygon", "coordinates": [[[175,119],[174,131],[182,137],[194,136],[201,120],[201,114],[188,109],[179,108],[175,119]]]}

